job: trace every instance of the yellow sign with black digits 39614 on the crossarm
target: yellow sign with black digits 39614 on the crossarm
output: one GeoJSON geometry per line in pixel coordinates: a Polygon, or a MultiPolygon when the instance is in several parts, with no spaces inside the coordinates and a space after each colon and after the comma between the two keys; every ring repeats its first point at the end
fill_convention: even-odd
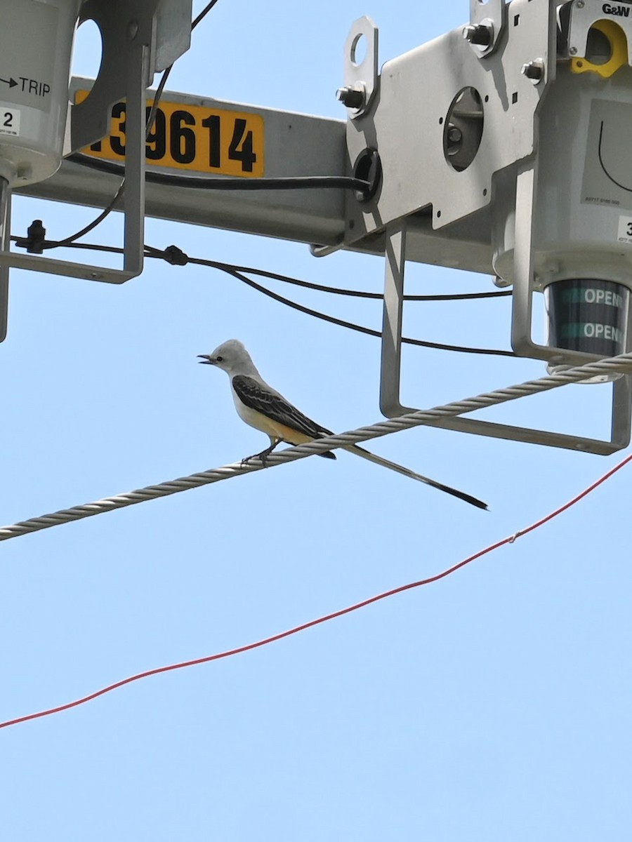
{"type": "MultiPolygon", "coordinates": [[[[89,91],[78,91],[82,102],[89,91]]],[[[153,100],[147,100],[147,115],[153,100]]],[[[110,135],[82,150],[85,155],[125,160],[126,107],[112,106],[110,135]]],[[[264,119],[246,111],[160,101],[147,136],[147,165],[196,173],[260,178],[264,174],[264,119]]]]}

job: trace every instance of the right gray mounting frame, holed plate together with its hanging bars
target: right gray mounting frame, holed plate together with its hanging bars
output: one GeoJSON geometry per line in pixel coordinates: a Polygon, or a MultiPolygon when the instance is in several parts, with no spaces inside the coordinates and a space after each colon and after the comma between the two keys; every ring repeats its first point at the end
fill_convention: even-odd
{"type": "MultiPolygon", "coordinates": [[[[509,7],[504,0],[471,0],[470,29],[481,24],[489,29],[489,45],[469,43],[463,37],[468,28],[455,29],[388,61],[370,107],[347,120],[350,162],[369,147],[378,149],[383,166],[382,189],[374,200],[361,204],[351,195],[347,197],[345,246],[362,248],[362,242],[383,237],[386,268],[380,408],[388,418],[414,411],[399,401],[399,365],[405,260],[410,257],[424,262],[415,242],[419,227],[425,226],[435,237],[449,237],[458,226],[469,223],[475,230],[473,221],[487,218],[489,232],[485,215],[494,193],[494,176],[501,170],[509,172],[508,168],[517,172],[511,345],[521,356],[556,364],[599,359],[573,351],[560,355],[560,349],[539,345],[532,338],[538,114],[555,77],[555,14],[554,0],[513,0],[509,7]],[[539,74],[530,76],[527,70],[536,66],[539,74]],[[430,78],[432,84],[421,84],[430,78]],[[484,121],[478,151],[463,169],[448,163],[444,132],[451,104],[465,88],[474,88],[479,94],[484,121]]],[[[351,72],[348,46],[361,23],[352,25],[346,41],[345,80],[351,72]]],[[[434,262],[430,254],[426,260],[434,262]]],[[[493,272],[491,258],[487,271],[493,272]]],[[[450,418],[437,426],[605,455],[629,444],[631,422],[632,378],[624,376],[613,385],[609,440],[469,418],[450,418]]]]}

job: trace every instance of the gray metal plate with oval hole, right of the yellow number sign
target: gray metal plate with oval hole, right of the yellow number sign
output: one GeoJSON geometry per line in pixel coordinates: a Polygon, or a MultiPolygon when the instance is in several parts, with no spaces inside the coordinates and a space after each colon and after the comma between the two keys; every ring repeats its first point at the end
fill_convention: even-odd
{"type": "Polygon", "coordinates": [[[347,244],[428,206],[440,229],[489,205],[493,173],[533,154],[536,109],[554,74],[553,16],[549,0],[513,0],[489,56],[478,57],[459,28],[386,62],[372,107],[347,123],[351,165],[367,147],[378,148],[383,165],[376,200],[347,199],[347,244]],[[522,74],[534,59],[546,67],[538,85],[522,74]],[[483,102],[484,128],[474,162],[457,172],[444,156],[444,120],[469,86],[483,102]]]}

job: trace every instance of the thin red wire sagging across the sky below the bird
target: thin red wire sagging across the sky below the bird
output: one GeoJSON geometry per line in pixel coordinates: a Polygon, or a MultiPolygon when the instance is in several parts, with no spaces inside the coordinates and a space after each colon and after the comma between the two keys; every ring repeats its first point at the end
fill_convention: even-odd
{"type": "Polygon", "coordinates": [[[345,614],[351,614],[351,611],[357,611],[361,608],[365,608],[367,605],[372,605],[373,602],[379,602],[380,600],[388,599],[389,596],[401,594],[404,592],[404,590],[420,588],[421,585],[431,584],[432,582],[438,582],[439,579],[446,578],[446,576],[449,576],[451,573],[455,573],[459,568],[465,567],[465,565],[469,564],[469,562],[474,562],[475,559],[480,558],[482,556],[486,556],[489,552],[493,552],[494,550],[497,550],[499,547],[504,546],[505,544],[512,544],[514,541],[517,540],[517,538],[520,538],[523,535],[528,535],[529,532],[533,532],[533,530],[536,530],[540,526],[543,526],[544,524],[548,523],[549,520],[553,520],[558,516],[558,514],[562,514],[562,512],[565,512],[566,509],[570,509],[571,506],[574,506],[576,503],[579,503],[581,499],[585,498],[588,494],[594,491],[595,488],[598,488],[598,486],[602,485],[603,482],[606,482],[606,480],[612,477],[613,474],[620,471],[622,467],[627,465],[630,460],[632,460],[632,454],[626,456],[624,460],[619,462],[619,465],[615,465],[610,471],[608,471],[608,473],[605,473],[603,477],[600,477],[597,480],[597,482],[593,482],[591,486],[585,488],[584,491],[582,491],[580,494],[577,494],[577,496],[569,500],[568,503],[565,503],[563,506],[560,506],[559,509],[555,509],[553,512],[547,514],[546,517],[542,518],[541,520],[536,520],[535,523],[528,526],[526,529],[520,530],[519,532],[516,532],[514,535],[509,536],[508,538],[503,538],[502,541],[496,541],[495,544],[486,546],[484,550],[475,552],[473,556],[464,558],[462,562],[458,562],[458,564],[453,565],[453,567],[447,568],[447,570],[442,571],[442,573],[437,573],[436,576],[420,579],[418,582],[410,582],[409,584],[400,585],[399,588],[384,591],[383,594],[377,594],[377,596],[372,596],[368,600],[356,602],[355,605],[349,605],[347,608],[342,608],[339,611],[332,611],[331,614],[326,614],[322,617],[318,617],[316,620],[310,620],[307,623],[303,623],[302,626],[294,626],[294,628],[288,629],[287,632],[280,632],[279,634],[272,635],[271,637],[264,637],[263,640],[258,640],[254,643],[247,643],[245,646],[240,646],[236,649],[228,649],[225,652],[219,652],[214,655],[207,655],[206,658],[195,658],[192,661],[181,661],[179,663],[171,663],[169,664],[169,666],[166,667],[147,669],[144,673],[137,673],[136,675],[131,675],[129,678],[122,679],[121,681],[116,681],[115,684],[108,685],[107,687],[104,687],[101,690],[97,690],[95,693],[90,693],[90,695],[84,695],[81,699],[69,701],[66,705],[51,707],[46,711],[39,711],[38,713],[29,713],[25,717],[18,717],[17,719],[9,719],[7,722],[0,722],[0,728],[6,728],[9,725],[18,725],[19,722],[28,722],[29,719],[49,717],[52,713],[59,713],[60,711],[67,711],[71,707],[84,705],[87,701],[92,701],[93,699],[98,698],[99,695],[105,695],[105,693],[110,693],[112,690],[117,690],[119,687],[131,684],[132,681],[140,681],[140,679],[146,679],[150,675],[168,673],[172,669],[184,669],[185,667],[193,667],[198,663],[209,663],[210,661],[218,661],[220,660],[220,658],[229,658],[231,655],[238,655],[243,652],[249,652],[251,649],[258,649],[261,646],[267,646],[268,643],[273,643],[277,640],[282,640],[283,637],[290,637],[290,635],[297,634],[298,632],[304,632],[305,629],[311,628],[312,626],[319,626],[321,623],[325,623],[329,620],[335,620],[336,617],[341,617],[345,614]]]}

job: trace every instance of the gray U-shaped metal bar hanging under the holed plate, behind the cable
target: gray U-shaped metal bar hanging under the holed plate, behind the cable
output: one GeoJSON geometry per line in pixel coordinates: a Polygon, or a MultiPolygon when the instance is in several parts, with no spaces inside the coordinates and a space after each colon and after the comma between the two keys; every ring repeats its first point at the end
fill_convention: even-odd
{"type": "MultiPolygon", "coordinates": [[[[526,173],[529,172],[533,173],[533,169],[526,171],[526,173]]],[[[528,177],[525,174],[525,179],[522,181],[523,187],[527,181],[528,177]]],[[[402,317],[404,309],[405,226],[405,221],[401,220],[399,223],[389,226],[386,232],[380,409],[387,418],[397,418],[399,415],[404,415],[404,413],[415,412],[414,409],[404,407],[399,402],[402,317]]],[[[523,254],[522,249],[521,253],[523,254]]],[[[518,260],[518,233],[516,235],[516,255],[518,260]]],[[[529,264],[530,259],[529,254],[529,264]]],[[[586,355],[582,355],[582,361],[586,361],[586,355]]],[[[613,383],[612,424],[610,440],[608,441],[554,433],[544,429],[528,429],[512,424],[476,421],[472,418],[437,418],[436,421],[431,422],[430,426],[453,429],[459,433],[486,435],[496,439],[523,441],[532,445],[563,447],[568,450],[583,450],[586,453],[608,456],[629,445],[631,422],[632,376],[626,375],[613,383]]]]}

